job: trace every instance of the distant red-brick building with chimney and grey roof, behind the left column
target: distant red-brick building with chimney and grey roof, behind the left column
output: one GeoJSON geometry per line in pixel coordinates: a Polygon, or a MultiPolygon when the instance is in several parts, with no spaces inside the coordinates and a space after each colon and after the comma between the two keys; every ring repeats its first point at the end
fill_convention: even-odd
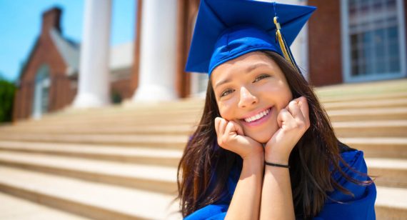
{"type": "MultiPolygon", "coordinates": [[[[36,39],[18,79],[14,119],[24,119],[63,109],[76,96],[80,44],[66,39],[61,31],[61,9],[53,8],[42,16],[41,34],[36,39]]],[[[135,88],[129,79],[134,43],[110,51],[111,101],[129,99],[135,88]]]]}

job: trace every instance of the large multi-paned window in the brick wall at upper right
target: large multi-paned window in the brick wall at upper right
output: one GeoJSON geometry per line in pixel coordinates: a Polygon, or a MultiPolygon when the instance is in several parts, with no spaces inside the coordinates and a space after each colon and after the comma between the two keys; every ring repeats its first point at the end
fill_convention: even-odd
{"type": "Polygon", "coordinates": [[[341,2],[345,81],[406,76],[403,1],[341,2]]]}

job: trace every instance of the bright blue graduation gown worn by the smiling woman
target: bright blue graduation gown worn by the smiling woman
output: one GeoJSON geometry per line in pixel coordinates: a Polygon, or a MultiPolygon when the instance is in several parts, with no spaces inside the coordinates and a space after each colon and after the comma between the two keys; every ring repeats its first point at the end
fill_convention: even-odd
{"type": "MultiPolygon", "coordinates": [[[[365,160],[363,159],[363,151],[346,151],[341,153],[342,158],[353,169],[360,171],[364,174],[367,173],[367,167],[365,160]]],[[[361,176],[355,172],[349,170],[343,164],[340,164],[341,169],[349,176],[358,180],[367,180],[367,176],[361,176]]],[[[205,206],[202,209],[195,211],[194,213],[186,216],[186,220],[196,219],[224,219],[226,211],[233,196],[234,189],[240,175],[240,171],[231,172],[228,178],[228,187],[225,192],[226,196],[218,201],[216,204],[205,206]]],[[[341,191],[335,190],[328,193],[331,199],[343,202],[338,203],[331,199],[326,199],[323,209],[318,216],[313,219],[376,219],[374,211],[374,203],[376,200],[376,186],[374,184],[368,186],[358,186],[346,181],[346,179],[340,174],[333,174],[333,178],[338,181],[341,186],[348,189],[354,194],[354,197],[341,193],[341,191]]]]}

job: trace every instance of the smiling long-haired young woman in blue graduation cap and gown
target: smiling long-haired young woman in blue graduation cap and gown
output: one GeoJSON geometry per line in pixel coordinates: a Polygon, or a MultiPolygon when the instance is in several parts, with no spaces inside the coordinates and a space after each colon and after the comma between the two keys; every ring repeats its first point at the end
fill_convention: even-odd
{"type": "Polygon", "coordinates": [[[284,45],[291,44],[290,35],[298,34],[314,9],[202,0],[199,10],[187,70],[204,66],[210,80],[204,114],[179,164],[183,216],[375,219],[376,187],[363,152],[338,141],[284,45]],[[251,16],[266,9],[274,16],[290,12],[296,16],[286,19],[291,24],[301,20],[284,33],[288,42],[279,36],[277,45],[271,36],[280,31],[276,20],[273,31],[261,26],[263,17],[253,21],[251,16]],[[228,21],[239,14],[249,19],[228,21]],[[208,34],[216,20],[223,27],[208,34]]]}

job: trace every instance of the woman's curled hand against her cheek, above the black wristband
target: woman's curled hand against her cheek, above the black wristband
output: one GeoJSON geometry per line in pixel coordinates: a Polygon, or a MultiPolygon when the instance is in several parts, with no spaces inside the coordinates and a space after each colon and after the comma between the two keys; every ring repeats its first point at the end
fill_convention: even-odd
{"type": "Polygon", "coordinates": [[[301,96],[290,101],[277,116],[278,129],[265,146],[265,159],[271,163],[288,164],[297,142],[310,126],[308,102],[301,96]]]}

